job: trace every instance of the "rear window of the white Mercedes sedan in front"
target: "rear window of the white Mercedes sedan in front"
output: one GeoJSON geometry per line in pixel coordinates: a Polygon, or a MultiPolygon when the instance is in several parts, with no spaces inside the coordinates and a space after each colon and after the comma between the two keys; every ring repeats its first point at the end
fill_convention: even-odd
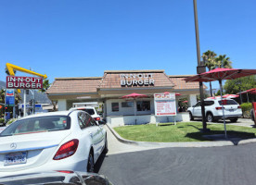
{"type": "Polygon", "coordinates": [[[41,131],[56,131],[62,129],[70,129],[70,117],[32,117],[13,122],[0,133],[0,136],[28,134],[41,131]]]}

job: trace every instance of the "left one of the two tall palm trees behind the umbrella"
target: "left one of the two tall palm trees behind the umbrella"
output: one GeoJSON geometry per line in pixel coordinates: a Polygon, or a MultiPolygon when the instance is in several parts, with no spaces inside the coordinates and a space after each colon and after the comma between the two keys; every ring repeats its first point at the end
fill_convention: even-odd
{"type": "MultiPolygon", "coordinates": [[[[216,57],[217,56],[213,51],[208,50],[207,52],[203,53],[202,58],[205,66],[208,70],[212,70],[216,67],[216,57]]],[[[211,89],[211,81],[210,81],[210,93],[212,96],[212,89],[211,89]]]]}

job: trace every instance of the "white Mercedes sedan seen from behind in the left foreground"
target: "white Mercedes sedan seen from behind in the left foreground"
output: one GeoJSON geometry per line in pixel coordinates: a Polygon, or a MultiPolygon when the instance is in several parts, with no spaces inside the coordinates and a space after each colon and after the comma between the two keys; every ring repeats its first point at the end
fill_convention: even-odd
{"type": "Polygon", "coordinates": [[[83,111],[21,118],[0,133],[0,176],[50,170],[94,171],[108,152],[106,130],[83,111]]]}

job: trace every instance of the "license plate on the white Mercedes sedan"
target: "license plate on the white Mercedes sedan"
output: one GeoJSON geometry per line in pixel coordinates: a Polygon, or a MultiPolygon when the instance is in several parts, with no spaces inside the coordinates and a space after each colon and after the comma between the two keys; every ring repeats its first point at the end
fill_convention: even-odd
{"type": "Polygon", "coordinates": [[[27,163],[27,152],[6,154],[4,165],[17,165],[27,163]]]}

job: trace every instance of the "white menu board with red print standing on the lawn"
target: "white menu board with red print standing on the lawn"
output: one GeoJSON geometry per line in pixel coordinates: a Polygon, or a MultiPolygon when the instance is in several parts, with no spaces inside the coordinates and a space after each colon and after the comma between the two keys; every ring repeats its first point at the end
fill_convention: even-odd
{"type": "Polygon", "coordinates": [[[155,115],[176,116],[175,93],[155,93],[155,115]]]}

